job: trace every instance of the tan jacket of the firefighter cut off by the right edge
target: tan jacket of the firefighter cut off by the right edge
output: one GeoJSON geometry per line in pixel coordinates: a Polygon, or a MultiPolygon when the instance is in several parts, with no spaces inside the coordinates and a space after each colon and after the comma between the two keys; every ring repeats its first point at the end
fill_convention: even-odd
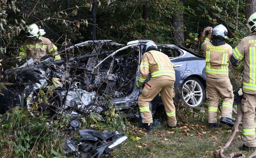
{"type": "Polygon", "coordinates": [[[244,37],[233,49],[232,65],[243,74],[243,92],[256,94],[256,32],[244,37]]]}

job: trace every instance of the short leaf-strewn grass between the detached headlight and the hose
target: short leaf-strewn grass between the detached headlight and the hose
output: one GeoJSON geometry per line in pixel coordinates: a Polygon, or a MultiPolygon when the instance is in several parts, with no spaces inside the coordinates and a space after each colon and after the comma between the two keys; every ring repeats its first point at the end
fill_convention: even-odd
{"type": "MultiPolygon", "coordinates": [[[[200,110],[201,117],[206,119],[202,121],[198,119],[198,116],[192,117],[186,124],[178,126],[176,129],[170,129],[166,126],[166,122],[162,122],[161,126],[154,127],[153,132],[146,132],[137,129],[135,124],[136,135],[130,137],[123,146],[116,149],[112,156],[118,158],[213,157],[215,150],[222,148],[229,139],[231,127],[221,124],[219,127],[209,129],[207,110],[202,109],[206,109],[206,107],[201,107],[200,110]]],[[[218,113],[218,117],[220,118],[220,113],[218,113]]],[[[225,155],[232,152],[250,155],[252,152],[238,150],[242,144],[242,127],[239,126],[239,131],[225,155]]]]}

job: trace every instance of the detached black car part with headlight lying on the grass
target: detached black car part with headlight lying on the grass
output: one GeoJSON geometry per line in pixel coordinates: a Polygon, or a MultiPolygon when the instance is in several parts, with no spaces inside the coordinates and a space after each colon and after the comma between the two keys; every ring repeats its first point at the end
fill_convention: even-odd
{"type": "Polygon", "coordinates": [[[64,154],[78,152],[78,158],[103,158],[125,143],[127,136],[118,131],[79,130],[81,138],[66,139],[62,144],[64,154]]]}

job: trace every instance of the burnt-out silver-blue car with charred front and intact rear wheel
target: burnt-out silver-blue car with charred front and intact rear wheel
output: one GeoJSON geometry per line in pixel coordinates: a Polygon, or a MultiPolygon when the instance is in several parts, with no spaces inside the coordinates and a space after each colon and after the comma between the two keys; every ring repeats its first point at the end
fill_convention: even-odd
{"type": "MultiPolygon", "coordinates": [[[[133,107],[140,90],[135,83],[142,48],[147,42],[136,40],[124,46],[111,40],[86,41],[60,52],[62,56],[78,53],[82,56],[60,61],[50,57],[31,65],[27,65],[28,61],[19,68],[7,70],[6,80],[15,84],[9,85],[5,96],[0,98],[5,106],[2,108],[24,104],[30,108],[39,103],[41,111],[49,110],[51,116],[56,116],[63,109],[100,112],[112,104],[136,115],[133,107]],[[48,93],[52,85],[55,87],[48,93]]],[[[181,98],[188,107],[199,107],[205,99],[203,57],[176,45],[157,44],[157,47],[174,64],[175,98],[181,98]]],[[[151,102],[152,112],[159,104],[161,97],[157,96],[151,102]]]]}

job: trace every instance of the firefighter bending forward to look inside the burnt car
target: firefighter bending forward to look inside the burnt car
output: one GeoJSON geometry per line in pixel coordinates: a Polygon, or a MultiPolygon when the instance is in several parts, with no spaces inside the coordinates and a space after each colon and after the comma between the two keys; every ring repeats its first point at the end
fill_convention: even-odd
{"type": "Polygon", "coordinates": [[[167,124],[170,127],[176,127],[175,107],[173,104],[175,71],[173,64],[167,55],[156,51],[157,46],[153,42],[148,42],[143,47],[143,56],[140,63],[139,79],[136,87],[140,86],[151,74],[151,79],[145,84],[142,94],[138,98],[140,115],[142,117],[143,129],[153,130],[153,119],[149,108],[149,102],[152,101],[159,93],[165,106],[167,114],[167,124]]]}

